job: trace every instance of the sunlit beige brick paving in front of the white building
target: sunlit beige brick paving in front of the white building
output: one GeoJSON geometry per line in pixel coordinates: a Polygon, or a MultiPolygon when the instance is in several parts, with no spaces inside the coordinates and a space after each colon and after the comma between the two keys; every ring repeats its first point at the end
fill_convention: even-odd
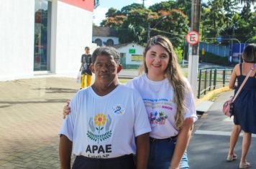
{"type": "Polygon", "coordinates": [[[44,77],[0,82],[0,168],[60,168],[58,130],[76,79],[44,77]]]}

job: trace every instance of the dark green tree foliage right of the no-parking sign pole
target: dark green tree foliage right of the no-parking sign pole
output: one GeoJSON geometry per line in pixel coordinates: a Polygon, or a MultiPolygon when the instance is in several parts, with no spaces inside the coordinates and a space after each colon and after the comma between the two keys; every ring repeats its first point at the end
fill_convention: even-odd
{"type": "MultiPolygon", "coordinates": [[[[238,10],[237,0],[211,0],[201,11],[202,37],[206,42],[213,42],[216,37],[238,39],[246,42],[256,36],[255,11],[251,11],[252,1],[242,1],[244,6],[238,10]],[[209,38],[209,39],[207,39],[209,38]]],[[[226,40],[224,44],[228,44],[226,40]]]]}

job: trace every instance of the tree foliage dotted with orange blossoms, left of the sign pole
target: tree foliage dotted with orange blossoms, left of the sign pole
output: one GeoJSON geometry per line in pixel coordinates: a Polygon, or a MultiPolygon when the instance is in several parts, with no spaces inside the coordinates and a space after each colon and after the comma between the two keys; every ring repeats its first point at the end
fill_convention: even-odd
{"type": "Polygon", "coordinates": [[[150,37],[163,34],[172,39],[175,47],[180,47],[184,43],[183,36],[188,32],[188,16],[177,8],[175,1],[163,1],[149,9],[142,4],[131,4],[124,6],[121,11],[109,9],[101,26],[116,28],[122,43],[145,44],[150,31],[150,37]]]}

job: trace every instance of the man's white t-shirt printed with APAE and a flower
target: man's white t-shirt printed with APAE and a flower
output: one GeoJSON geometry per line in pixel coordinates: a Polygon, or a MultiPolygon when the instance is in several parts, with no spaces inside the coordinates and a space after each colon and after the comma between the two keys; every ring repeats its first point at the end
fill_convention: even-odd
{"type": "Polygon", "coordinates": [[[116,158],[135,154],[135,137],[150,132],[142,97],[122,84],[105,96],[91,87],[70,102],[70,115],[59,134],[73,142],[73,154],[88,158],[116,158]]]}

